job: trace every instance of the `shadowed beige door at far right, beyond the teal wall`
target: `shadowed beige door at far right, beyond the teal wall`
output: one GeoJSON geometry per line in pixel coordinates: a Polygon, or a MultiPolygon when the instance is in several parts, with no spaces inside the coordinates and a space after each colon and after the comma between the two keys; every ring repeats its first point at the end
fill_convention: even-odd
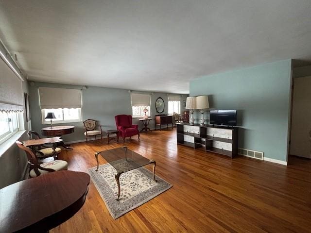
{"type": "Polygon", "coordinates": [[[311,76],[294,79],[290,154],[311,158],[311,76]]]}

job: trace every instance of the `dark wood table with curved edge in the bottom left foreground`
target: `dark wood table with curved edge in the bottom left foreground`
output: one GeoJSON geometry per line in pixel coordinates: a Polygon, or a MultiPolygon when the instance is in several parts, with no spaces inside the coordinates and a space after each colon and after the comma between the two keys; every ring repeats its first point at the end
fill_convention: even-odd
{"type": "Polygon", "coordinates": [[[0,233],[48,232],[83,206],[90,177],[55,171],[0,189],[0,233]]]}

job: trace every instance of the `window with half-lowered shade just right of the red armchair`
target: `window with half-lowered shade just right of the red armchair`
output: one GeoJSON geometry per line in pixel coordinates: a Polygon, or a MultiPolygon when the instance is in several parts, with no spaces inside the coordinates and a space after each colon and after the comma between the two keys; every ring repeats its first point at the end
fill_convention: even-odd
{"type": "Polygon", "coordinates": [[[147,116],[151,116],[150,112],[150,95],[131,93],[131,104],[132,104],[132,116],[142,117],[145,115],[143,110],[146,108],[148,112],[147,116]]]}

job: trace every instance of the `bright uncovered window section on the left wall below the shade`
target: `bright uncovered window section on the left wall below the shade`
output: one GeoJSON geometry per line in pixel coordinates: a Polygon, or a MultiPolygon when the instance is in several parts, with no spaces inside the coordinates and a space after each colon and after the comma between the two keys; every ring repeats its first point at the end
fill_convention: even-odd
{"type": "Polygon", "coordinates": [[[0,112],[0,143],[19,130],[17,113],[0,112]]]}

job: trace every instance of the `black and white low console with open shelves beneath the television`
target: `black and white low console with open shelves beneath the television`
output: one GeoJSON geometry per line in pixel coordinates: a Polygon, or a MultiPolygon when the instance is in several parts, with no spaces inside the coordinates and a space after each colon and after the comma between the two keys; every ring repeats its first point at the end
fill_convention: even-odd
{"type": "Polygon", "coordinates": [[[233,158],[238,154],[238,128],[200,126],[177,123],[177,144],[194,149],[205,147],[206,151],[233,158]]]}

